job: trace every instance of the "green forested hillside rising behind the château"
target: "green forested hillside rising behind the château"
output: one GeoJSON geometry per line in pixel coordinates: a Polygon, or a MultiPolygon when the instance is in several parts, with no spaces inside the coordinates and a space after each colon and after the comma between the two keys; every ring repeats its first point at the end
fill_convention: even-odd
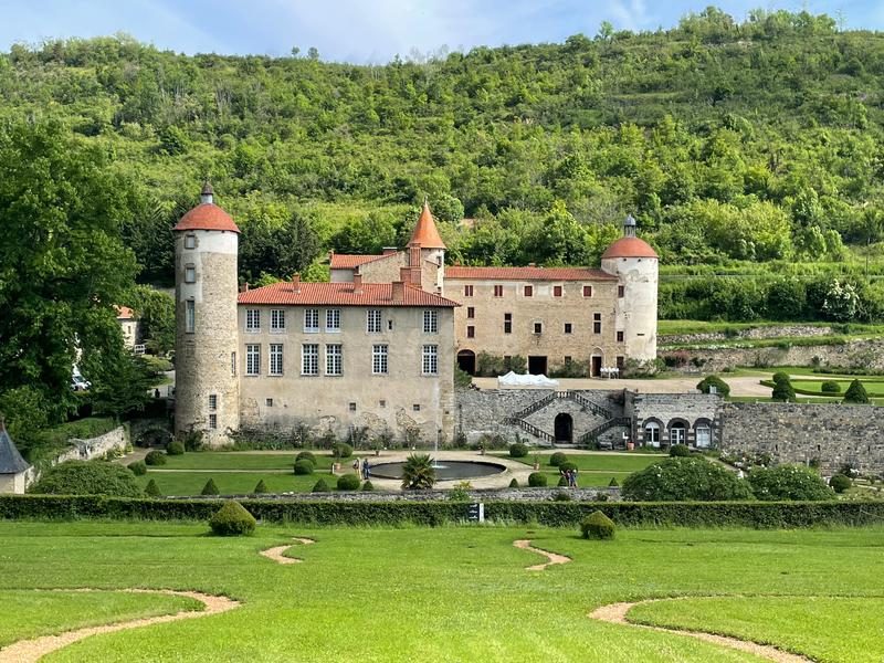
{"type": "Polygon", "coordinates": [[[252,280],[401,243],[424,196],[464,263],[592,263],[627,212],[670,265],[838,262],[882,239],[884,34],[708,9],[420,63],[313,55],[17,45],[0,113],[62,118],[107,151],[150,282],[170,278],[168,229],[206,176],[252,280]]]}

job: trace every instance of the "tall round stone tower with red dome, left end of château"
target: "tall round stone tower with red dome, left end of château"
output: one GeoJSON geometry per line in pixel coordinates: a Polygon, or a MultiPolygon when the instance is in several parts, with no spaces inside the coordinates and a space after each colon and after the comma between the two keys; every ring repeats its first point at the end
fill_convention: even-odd
{"type": "Polygon", "coordinates": [[[236,254],[240,229],[202,188],[175,227],[175,431],[212,446],[240,427],[236,254]]]}

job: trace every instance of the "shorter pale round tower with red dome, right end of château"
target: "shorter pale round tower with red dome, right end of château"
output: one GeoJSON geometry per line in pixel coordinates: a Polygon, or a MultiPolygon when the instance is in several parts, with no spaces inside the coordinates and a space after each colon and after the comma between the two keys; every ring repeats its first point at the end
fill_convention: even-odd
{"type": "Polygon", "coordinates": [[[656,359],[656,288],[660,259],[635,236],[635,219],[623,221],[623,236],[601,256],[601,269],[618,277],[615,328],[623,332],[627,357],[656,359]]]}

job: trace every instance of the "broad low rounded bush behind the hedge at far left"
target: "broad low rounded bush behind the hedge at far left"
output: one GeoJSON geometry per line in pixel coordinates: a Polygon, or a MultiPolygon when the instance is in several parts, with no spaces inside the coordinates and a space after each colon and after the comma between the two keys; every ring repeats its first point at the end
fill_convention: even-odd
{"type": "Polygon", "coordinates": [[[104,461],[67,461],[43,472],[29,493],[140,497],[141,486],[128,467],[104,461]]]}

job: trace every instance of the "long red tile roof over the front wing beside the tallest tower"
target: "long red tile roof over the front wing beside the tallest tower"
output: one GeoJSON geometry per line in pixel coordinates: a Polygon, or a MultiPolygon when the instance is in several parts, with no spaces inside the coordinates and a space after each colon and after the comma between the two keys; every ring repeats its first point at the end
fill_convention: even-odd
{"type": "Polygon", "coordinates": [[[278,304],[283,306],[460,306],[456,302],[406,285],[402,302],[393,302],[391,283],[364,283],[354,293],[352,283],[301,283],[298,292],[291,282],[274,283],[240,293],[239,304],[278,304]]]}

